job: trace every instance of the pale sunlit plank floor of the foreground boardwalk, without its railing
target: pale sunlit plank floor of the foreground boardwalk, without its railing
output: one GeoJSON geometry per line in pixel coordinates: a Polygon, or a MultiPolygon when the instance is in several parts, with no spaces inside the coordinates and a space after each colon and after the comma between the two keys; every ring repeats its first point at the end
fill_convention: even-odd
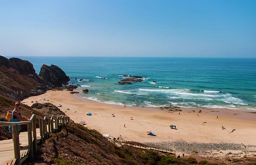
{"type": "MultiPolygon", "coordinates": [[[[40,129],[36,129],[36,134],[40,135],[40,129]]],[[[41,137],[37,136],[37,140],[41,137]]],[[[23,162],[28,157],[28,132],[21,132],[19,134],[19,142],[21,143],[21,162],[23,162]]],[[[14,145],[12,139],[1,140],[0,141],[0,165],[13,165],[15,162],[14,158],[14,145]],[[12,163],[13,162],[13,163],[12,163]]]]}

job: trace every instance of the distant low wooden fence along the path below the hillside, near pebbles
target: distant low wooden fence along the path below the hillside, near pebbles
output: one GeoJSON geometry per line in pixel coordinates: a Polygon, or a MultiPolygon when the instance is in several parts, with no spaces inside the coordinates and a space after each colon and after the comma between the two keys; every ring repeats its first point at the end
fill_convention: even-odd
{"type": "Polygon", "coordinates": [[[153,145],[141,144],[141,143],[137,143],[137,142],[129,142],[129,141],[122,140],[122,139],[114,140],[113,136],[109,136],[109,137],[106,137],[106,138],[111,143],[119,144],[120,146],[125,144],[125,145],[128,145],[128,146],[134,146],[136,148],[143,148],[143,149],[146,149],[146,150],[156,150],[156,151],[161,151],[161,152],[165,152],[165,153],[175,154],[175,150],[173,150],[171,148],[158,147],[158,146],[153,146],[153,145]]]}

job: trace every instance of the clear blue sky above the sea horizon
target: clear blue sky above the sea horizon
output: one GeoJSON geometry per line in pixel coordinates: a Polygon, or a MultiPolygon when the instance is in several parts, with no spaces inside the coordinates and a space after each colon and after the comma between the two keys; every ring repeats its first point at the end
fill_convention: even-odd
{"type": "Polygon", "coordinates": [[[0,0],[0,55],[256,58],[256,0],[0,0]]]}

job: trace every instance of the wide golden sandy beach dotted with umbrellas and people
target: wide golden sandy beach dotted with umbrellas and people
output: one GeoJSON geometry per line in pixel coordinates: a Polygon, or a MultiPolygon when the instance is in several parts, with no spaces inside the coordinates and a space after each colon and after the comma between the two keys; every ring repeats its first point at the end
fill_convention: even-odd
{"type": "Polygon", "coordinates": [[[72,95],[69,91],[48,91],[25,99],[23,103],[31,106],[32,101],[51,102],[56,106],[62,104],[60,109],[74,122],[85,121],[88,128],[116,138],[121,135],[127,141],[256,145],[256,113],[247,111],[182,108],[182,111],[168,112],[155,107],[124,107],[94,102],[80,98],[79,94],[72,95]],[[202,113],[198,113],[199,110],[202,113]],[[89,112],[92,116],[86,115],[89,112]],[[112,114],[116,117],[112,117],[112,114]],[[171,129],[171,124],[176,125],[177,129],[171,129]],[[226,129],[222,130],[222,126],[226,129]],[[230,133],[233,129],[235,131],[230,133]],[[156,136],[147,135],[148,130],[155,132],[156,136]]]}

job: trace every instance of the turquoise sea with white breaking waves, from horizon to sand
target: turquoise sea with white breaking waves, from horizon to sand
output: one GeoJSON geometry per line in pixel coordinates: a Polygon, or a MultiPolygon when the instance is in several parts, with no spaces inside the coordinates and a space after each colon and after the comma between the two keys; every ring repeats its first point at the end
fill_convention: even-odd
{"type": "Polygon", "coordinates": [[[90,90],[88,94],[81,94],[82,97],[98,102],[132,106],[174,104],[180,107],[256,110],[256,59],[19,58],[29,60],[38,74],[43,64],[61,67],[71,78],[70,84],[81,85],[78,90],[90,90]],[[117,84],[125,74],[142,76],[145,81],[130,85],[117,84]]]}

